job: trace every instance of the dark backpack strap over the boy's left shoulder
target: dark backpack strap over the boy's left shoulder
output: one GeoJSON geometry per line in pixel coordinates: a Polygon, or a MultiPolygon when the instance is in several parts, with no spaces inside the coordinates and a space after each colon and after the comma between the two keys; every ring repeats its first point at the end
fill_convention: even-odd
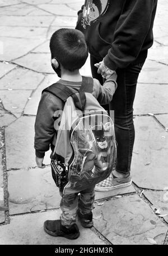
{"type": "Polygon", "coordinates": [[[43,92],[50,92],[64,102],[67,100],[68,97],[74,94],[74,92],[72,92],[70,88],[64,86],[61,83],[54,83],[52,84],[52,86],[45,88],[42,93],[43,92]]]}

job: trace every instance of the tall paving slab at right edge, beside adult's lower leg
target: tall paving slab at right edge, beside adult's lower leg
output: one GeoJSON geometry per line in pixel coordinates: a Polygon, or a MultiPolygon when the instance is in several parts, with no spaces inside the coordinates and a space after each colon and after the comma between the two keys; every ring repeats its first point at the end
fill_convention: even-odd
{"type": "Polygon", "coordinates": [[[134,125],[133,181],[142,188],[163,190],[168,186],[168,134],[152,116],[136,116],[134,125]]]}

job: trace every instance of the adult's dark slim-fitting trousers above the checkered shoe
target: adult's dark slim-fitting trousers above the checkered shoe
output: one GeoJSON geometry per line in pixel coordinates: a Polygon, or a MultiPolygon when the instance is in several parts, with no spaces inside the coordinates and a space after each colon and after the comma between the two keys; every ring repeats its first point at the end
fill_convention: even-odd
{"type": "MultiPolygon", "coordinates": [[[[96,60],[91,56],[92,77],[102,84],[102,77],[97,74],[96,60]]],[[[134,145],[134,123],[133,123],[133,102],[136,95],[138,75],[141,72],[143,63],[129,65],[125,69],[117,69],[118,87],[114,93],[113,100],[109,105],[102,105],[106,110],[114,110],[114,127],[117,142],[117,155],[115,169],[124,174],[130,173],[130,164],[134,145]]]]}

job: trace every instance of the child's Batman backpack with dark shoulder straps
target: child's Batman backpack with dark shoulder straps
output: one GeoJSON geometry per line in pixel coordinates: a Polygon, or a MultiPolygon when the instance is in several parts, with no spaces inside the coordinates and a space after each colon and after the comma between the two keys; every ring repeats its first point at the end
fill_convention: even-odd
{"type": "Polygon", "coordinates": [[[93,86],[91,77],[82,77],[77,93],[60,83],[44,89],[64,102],[51,161],[52,176],[58,187],[64,187],[63,194],[95,186],[114,167],[114,124],[92,95],[93,86]]]}

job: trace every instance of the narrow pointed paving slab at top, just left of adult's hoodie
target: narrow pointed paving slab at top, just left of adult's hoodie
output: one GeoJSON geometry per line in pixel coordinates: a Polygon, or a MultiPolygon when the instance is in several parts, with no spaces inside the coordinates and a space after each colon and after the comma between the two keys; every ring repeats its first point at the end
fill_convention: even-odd
{"type": "Polygon", "coordinates": [[[61,16],[74,16],[77,17],[76,10],[73,10],[71,7],[66,4],[59,3],[59,5],[38,5],[42,10],[48,11],[51,14],[61,15],[61,16]]]}

